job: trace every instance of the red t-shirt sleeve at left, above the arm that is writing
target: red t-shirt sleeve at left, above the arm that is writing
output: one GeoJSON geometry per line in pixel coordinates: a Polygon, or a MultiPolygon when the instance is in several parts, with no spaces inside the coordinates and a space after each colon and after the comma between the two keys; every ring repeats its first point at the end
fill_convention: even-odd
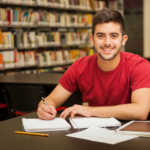
{"type": "Polygon", "coordinates": [[[77,61],[67,69],[63,76],[59,79],[59,83],[69,92],[73,93],[77,90],[77,61]]]}

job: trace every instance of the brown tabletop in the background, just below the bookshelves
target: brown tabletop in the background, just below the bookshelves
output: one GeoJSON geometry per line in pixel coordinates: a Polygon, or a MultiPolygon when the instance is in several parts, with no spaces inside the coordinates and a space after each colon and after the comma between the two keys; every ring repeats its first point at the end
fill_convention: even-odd
{"type": "Polygon", "coordinates": [[[0,84],[56,85],[63,73],[15,74],[0,77],[0,84]]]}

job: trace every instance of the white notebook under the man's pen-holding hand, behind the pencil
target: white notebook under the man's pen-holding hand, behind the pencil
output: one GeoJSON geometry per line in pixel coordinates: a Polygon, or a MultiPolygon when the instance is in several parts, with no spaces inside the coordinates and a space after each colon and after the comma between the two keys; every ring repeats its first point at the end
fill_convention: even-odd
{"type": "Polygon", "coordinates": [[[62,118],[55,118],[53,120],[22,118],[22,123],[26,132],[57,131],[71,128],[69,123],[62,118]]]}

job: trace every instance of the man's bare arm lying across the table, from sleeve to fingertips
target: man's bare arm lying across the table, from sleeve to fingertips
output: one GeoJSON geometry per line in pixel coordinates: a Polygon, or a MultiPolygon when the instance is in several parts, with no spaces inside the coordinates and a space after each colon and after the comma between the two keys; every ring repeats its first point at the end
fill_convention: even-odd
{"type": "Polygon", "coordinates": [[[115,117],[122,120],[146,120],[150,112],[150,88],[141,88],[132,92],[131,103],[116,106],[87,107],[74,105],[66,109],[61,118],[80,114],[86,117],[115,117]]]}

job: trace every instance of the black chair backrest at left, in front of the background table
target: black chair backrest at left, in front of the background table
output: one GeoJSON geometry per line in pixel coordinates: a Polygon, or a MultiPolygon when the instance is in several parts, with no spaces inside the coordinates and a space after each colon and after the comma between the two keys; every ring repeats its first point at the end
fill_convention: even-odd
{"type": "Polygon", "coordinates": [[[3,94],[7,105],[22,113],[36,111],[41,97],[45,97],[42,86],[4,86],[3,94]]]}

